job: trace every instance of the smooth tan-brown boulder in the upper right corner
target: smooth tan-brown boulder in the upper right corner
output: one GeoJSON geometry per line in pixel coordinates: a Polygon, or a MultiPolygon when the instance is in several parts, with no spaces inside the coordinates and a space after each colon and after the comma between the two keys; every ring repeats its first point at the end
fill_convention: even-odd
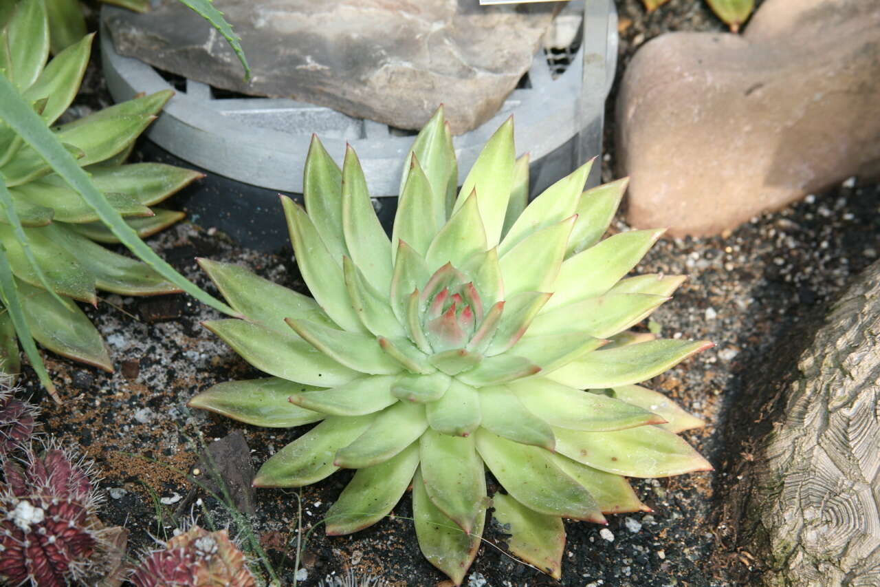
{"type": "Polygon", "coordinates": [[[880,3],[768,0],[744,36],[670,33],[617,103],[627,219],[717,234],[880,172],[880,3]]]}

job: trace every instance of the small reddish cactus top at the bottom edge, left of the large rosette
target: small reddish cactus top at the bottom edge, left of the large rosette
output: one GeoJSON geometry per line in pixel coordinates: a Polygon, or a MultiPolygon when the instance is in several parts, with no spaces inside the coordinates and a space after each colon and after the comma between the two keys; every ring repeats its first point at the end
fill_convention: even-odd
{"type": "Polygon", "coordinates": [[[225,530],[193,526],[149,554],[129,581],[135,587],[256,587],[245,555],[225,530]]]}

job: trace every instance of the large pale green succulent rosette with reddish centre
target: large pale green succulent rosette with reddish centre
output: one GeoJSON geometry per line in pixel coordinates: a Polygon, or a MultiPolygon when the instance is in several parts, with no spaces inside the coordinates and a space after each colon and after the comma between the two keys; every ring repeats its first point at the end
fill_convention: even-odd
{"type": "Polygon", "coordinates": [[[625,277],[663,231],[601,241],[626,181],[583,192],[590,164],[526,205],[528,160],[514,153],[511,119],[456,195],[438,110],[407,156],[389,239],[355,152],[340,169],[315,138],[305,209],[282,198],[313,299],[201,261],[246,316],[205,325],[272,377],[190,405],[265,427],[319,421],[254,485],[356,469],[327,512],[335,535],[375,524],[412,484],[422,553],[455,583],[490,505],[511,550],[558,577],[561,518],[602,524],[646,509],[625,477],[711,468],[676,435],[700,420],[635,385],[711,346],[627,332],[683,280],[625,277]],[[486,467],[506,492],[494,501],[486,467]]]}

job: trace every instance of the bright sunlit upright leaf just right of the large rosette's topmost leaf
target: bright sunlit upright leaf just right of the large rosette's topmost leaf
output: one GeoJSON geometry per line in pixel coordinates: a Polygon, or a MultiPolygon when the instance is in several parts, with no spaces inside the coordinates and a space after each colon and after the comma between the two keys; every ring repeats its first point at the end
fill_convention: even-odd
{"type": "MultiPolygon", "coordinates": [[[[487,247],[491,249],[501,240],[504,215],[513,187],[513,167],[516,152],[513,146],[513,117],[508,118],[483,146],[480,156],[473,163],[465,182],[458,192],[452,212],[466,205],[466,200],[476,190],[480,219],[486,231],[487,247]]],[[[442,263],[441,263],[442,264],[442,263]]]]}

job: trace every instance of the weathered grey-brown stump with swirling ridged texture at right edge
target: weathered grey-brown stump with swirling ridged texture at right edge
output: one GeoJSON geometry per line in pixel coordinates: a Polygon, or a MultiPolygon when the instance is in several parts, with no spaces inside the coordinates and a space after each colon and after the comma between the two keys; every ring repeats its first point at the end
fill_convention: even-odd
{"type": "Polygon", "coordinates": [[[777,401],[737,541],[767,585],[880,585],[880,263],[832,306],[777,401]]]}

